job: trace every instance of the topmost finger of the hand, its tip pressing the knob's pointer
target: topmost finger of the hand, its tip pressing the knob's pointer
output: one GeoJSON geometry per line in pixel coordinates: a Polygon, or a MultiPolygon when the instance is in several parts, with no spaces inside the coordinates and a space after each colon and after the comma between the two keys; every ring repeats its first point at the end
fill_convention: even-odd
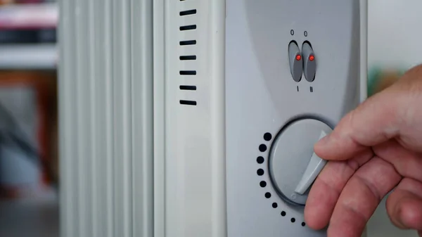
{"type": "Polygon", "coordinates": [[[418,65],[348,113],[331,135],[316,143],[316,154],[327,160],[347,160],[362,146],[374,146],[392,137],[422,152],[421,99],[422,65],[418,65]]]}

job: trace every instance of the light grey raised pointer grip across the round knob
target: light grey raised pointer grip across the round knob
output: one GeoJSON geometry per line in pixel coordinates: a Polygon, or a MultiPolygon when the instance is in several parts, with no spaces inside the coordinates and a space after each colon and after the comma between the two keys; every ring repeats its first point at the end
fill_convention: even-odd
{"type": "MultiPolygon", "coordinates": [[[[322,130],[319,135],[319,140],[323,139],[326,135],[326,131],[322,130]]],[[[309,160],[305,169],[305,173],[302,175],[302,179],[300,179],[298,186],[296,186],[295,193],[303,195],[307,190],[309,190],[326,163],[326,160],[321,159],[318,155],[316,155],[316,153],[313,153],[311,160],[309,160]]]]}

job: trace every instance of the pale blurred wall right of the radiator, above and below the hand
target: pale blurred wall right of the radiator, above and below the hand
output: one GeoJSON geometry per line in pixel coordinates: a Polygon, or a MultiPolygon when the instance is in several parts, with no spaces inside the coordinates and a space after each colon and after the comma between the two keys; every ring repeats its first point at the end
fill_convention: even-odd
{"type": "MultiPolygon", "coordinates": [[[[369,68],[408,69],[422,63],[422,1],[368,0],[369,68]]],[[[368,237],[416,237],[390,224],[385,200],[368,225],[368,237]]]]}

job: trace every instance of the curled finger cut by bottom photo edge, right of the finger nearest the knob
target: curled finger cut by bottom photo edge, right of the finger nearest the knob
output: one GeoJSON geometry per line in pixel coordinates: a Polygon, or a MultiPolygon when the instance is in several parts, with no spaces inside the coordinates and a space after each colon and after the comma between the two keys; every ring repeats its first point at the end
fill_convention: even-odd
{"type": "Polygon", "coordinates": [[[338,198],[328,236],[360,237],[381,199],[402,179],[394,167],[375,157],[360,167],[338,198]]]}

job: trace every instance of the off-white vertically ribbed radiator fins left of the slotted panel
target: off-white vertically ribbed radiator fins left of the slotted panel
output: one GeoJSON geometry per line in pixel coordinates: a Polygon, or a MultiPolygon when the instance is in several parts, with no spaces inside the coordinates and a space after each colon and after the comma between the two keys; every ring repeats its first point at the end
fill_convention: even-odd
{"type": "Polygon", "coordinates": [[[152,4],[60,1],[62,237],[153,236],[152,4]]]}

